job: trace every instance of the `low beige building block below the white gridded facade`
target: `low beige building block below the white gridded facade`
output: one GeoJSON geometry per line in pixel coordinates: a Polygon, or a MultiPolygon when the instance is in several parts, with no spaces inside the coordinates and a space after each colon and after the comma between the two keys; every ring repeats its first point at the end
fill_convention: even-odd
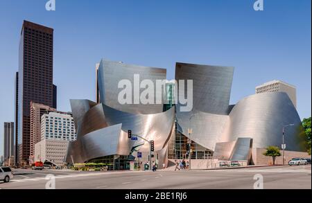
{"type": "Polygon", "coordinates": [[[35,161],[64,166],[68,145],[67,140],[43,139],[35,144],[35,161]]]}

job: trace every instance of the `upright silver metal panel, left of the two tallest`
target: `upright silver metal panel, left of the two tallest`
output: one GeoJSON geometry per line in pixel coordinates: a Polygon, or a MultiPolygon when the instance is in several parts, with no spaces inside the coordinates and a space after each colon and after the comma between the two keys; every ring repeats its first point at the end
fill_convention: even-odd
{"type": "MultiPolygon", "coordinates": [[[[139,74],[140,81],[146,79],[152,80],[154,85],[156,84],[156,80],[166,80],[166,69],[142,67],[132,64],[124,64],[123,62],[111,62],[107,60],[101,60],[100,67],[98,68],[98,85],[101,95],[101,103],[122,112],[129,112],[132,114],[157,114],[162,112],[163,105],[121,105],[118,102],[118,95],[121,91],[121,89],[118,88],[119,81],[129,80],[132,86],[134,86],[135,74],[139,74]]],[[[134,87],[132,87],[132,96],[134,95],[133,89],[134,87]]],[[[140,89],[139,91],[141,94],[144,89],[140,89]]],[[[159,91],[164,92],[164,89],[159,91]]],[[[163,96],[162,93],[160,95],[163,96]]],[[[132,100],[132,103],[133,102],[134,101],[132,100]]]]}

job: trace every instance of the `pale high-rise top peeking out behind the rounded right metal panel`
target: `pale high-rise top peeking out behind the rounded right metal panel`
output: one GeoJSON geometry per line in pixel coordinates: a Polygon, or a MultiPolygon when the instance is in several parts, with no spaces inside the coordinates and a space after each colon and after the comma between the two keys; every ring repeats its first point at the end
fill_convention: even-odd
{"type": "Polygon", "coordinates": [[[266,82],[262,85],[256,87],[256,94],[261,94],[265,92],[286,92],[295,108],[297,108],[297,96],[296,96],[296,87],[293,85],[289,85],[286,82],[281,80],[272,80],[270,82],[266,82]]]}

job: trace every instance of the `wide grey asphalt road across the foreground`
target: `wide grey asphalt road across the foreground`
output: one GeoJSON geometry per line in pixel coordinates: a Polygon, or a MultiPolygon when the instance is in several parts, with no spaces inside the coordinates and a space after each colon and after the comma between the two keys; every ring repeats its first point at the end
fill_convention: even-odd
{"type": "Polygon", "coordinates": [[[0,182],[0,188],[44,189],[49,174],[55,176],[56,189],[253,189],[254,175],[263,177],[264,189],[311,189],[311,165],[155,173],[17,170],[10,183],[0,182]]]}

